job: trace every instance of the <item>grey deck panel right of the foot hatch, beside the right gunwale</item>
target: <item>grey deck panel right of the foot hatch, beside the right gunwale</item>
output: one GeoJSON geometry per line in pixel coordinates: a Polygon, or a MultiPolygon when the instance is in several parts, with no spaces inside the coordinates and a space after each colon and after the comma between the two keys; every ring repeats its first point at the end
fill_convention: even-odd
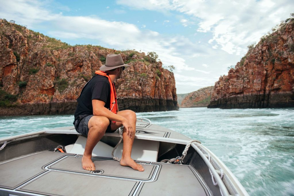
{"type": "Polygon", "coordinates": [[[156,181],[144,182],[136,195],[209,195],[189,165],[160,165],[156,181]]]}

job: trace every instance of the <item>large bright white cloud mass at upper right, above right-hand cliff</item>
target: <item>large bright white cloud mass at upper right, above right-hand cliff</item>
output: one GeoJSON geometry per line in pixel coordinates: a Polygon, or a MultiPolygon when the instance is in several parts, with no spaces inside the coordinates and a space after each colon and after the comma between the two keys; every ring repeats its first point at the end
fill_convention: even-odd
{"type": "Polygon", "coordinates": [[[246,46],[258,42],[273,26],[288,18],[294,7],[291,0],[119,0],[118,3],[136,9],[178,11],[191,19],[200,19],[197,31],[212,32],[212,41],[216,41],[222,50],[236,55],[246,53],[246,46]]]}

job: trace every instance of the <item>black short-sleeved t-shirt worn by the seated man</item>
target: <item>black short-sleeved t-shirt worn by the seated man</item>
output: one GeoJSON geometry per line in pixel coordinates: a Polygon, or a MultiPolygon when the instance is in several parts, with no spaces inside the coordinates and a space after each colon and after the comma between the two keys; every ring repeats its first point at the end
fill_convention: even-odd
{"type": "Polygon", "coordinates": [[[110,108],[110,83],[106,76],[95,75],[84,86],[81,95],[78,97],[78,105],[74,114],[75,121],[80,115],[92,115],[92,100],[99,99],[105,102],[105,108],[110,108]]]}

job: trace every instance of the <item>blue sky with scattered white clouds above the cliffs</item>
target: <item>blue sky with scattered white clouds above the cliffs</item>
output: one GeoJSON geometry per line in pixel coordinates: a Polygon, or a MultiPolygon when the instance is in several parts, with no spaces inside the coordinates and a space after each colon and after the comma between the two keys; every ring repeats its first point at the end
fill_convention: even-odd
{"type": "Polygon", "coordinates": [[[214,86],[248,45],[290,17],[293,0],[0,0],[0,18],[71,45],[156,52],[177,93],[214,86]]]}

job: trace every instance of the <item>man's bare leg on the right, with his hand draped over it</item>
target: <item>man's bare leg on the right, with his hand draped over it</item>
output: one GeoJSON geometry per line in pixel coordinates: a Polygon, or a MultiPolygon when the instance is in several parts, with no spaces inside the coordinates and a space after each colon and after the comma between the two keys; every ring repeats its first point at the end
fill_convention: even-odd
{"type": "MultiPolygon", "coordinates": [[[[132,152],[132,146],[135,138],[135,132],[136,132],[136,113],[132,110],[123,110],[119,111],[117,113],[118,115],[121,115],[125,117],[132,125],[133,127],[133,137],[128,137],[126,133],[126,129],[123,128],[123,154],[121,156],[121,165],[122,166],[128,166],[132,167],[134,170],[144,171],[144,168],[142,165],[137,164],[132,158],[131,158],[131,152],[132,152]]],[[[121,127],[121,122],[116,122],[114,124],[111,124],[111,129],[116,130],[118,127],[121,127]]]]}

